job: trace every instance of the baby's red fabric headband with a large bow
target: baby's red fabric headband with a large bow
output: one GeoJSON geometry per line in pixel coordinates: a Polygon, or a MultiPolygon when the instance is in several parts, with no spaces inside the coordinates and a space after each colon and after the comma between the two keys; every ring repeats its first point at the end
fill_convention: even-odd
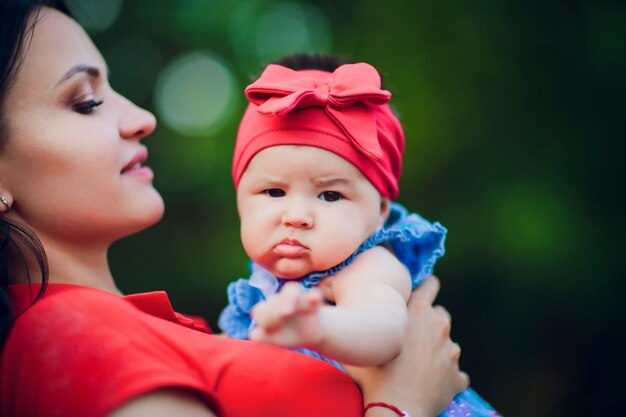
{"type": "Polygon", "coordinates": [[[404,133],[369,64],[334,72],[294,71],[268,65],[246,88],[250,101],[237,133],[232,175],[235,187],[259,151],[307,145],[333,152],[356,166],[383,197],[396,198],[404,133]]]}

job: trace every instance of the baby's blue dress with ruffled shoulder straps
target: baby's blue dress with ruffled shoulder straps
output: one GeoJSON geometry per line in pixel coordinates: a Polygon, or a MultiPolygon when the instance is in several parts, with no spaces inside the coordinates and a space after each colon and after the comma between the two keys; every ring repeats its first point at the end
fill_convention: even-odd
{"type": "MultiPolygon", "coordinates": [[[[230,337],[248,339],[249,331],[254,327],[250,317],[252,307],[280,291],[290,281],[297,281],[303,288],[309,289],[322,279],[334,275],[354,258],[376,245],[390,247],[396,257],[408,268],[413,288],[432,274],[438,258],[443,256],[447,230],[438,222],[430,223],[423,217],[408,210],[398,203],[391,203],[391,212],[385,225],[357,250],[334,267],[325,271],[312,272],[298,280],[276,278],[270,272],[254,262],[250,263],[250,278],[240,278],[228,285],[228,306],[220,314],[218,325],[230,337]]],[[[341,364],[311,349],[298,348],[298,352],[316,357],[343,370],[341,364]]],[[[442,417],[494,417],[498,414],[485,400],[471,388],[457,395],[448,408],[440,414],[442,417]]]]}

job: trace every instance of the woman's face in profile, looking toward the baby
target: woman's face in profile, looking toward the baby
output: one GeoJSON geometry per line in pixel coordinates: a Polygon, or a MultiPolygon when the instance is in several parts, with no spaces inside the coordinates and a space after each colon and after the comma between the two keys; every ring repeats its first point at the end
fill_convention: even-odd
{"type": "Polygon", "coordinates": [[[44,243],[106,244],[157,222],[163,201],[140,143],[154,116],[111,88],[98,49],[56,10],[42,10],[23,54],[2,114],[9,216],[44,243]]]}

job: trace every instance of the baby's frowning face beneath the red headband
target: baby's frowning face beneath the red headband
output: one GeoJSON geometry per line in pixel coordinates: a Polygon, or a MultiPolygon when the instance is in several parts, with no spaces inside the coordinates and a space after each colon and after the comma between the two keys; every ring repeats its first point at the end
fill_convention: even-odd
{"type": "Polygon", "coordinates": [[[262,150],[237,189],[244,249],[280,278],[342,262],[382,225],[388,207],[352,164],[311,146],[262,150]]]}

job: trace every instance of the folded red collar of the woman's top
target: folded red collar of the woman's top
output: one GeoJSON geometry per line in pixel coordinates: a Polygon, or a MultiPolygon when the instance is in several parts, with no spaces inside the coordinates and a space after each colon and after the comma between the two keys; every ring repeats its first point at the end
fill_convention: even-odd
{"type": "MultiPolygon", "coordinates": [[[[9,285],[8,292],[15,314],[21,314],[28,309],[39,293],[41,284],[13,284],[9,285]]],[[[75,290],[101,291],[97,288],[75,284],[48,284],[41,299],[75,290]]],[[[110,293],[107,293],[110,294],[110,293]]],[[[174,311],[172,303],[165,291],[151,291],[121,296],[122,299],[137,307],[146,314],[164,320],[173,321],[181,326],[189,327],[205,333],[212,333],[206,320],[201,317],[186,316],[174,311]]]]}

